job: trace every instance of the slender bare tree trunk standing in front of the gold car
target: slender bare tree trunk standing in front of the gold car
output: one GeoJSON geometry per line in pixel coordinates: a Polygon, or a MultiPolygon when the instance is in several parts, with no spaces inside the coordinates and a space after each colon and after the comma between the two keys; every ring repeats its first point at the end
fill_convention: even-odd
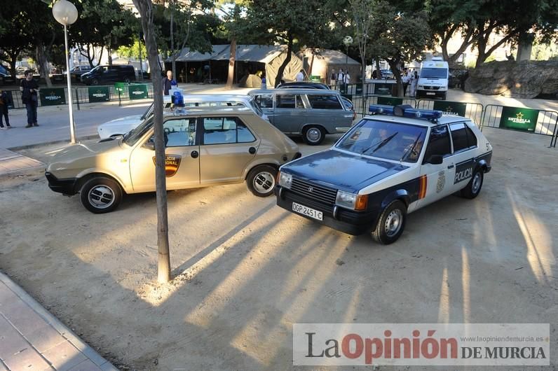
{"type": "Polygon", "coordinates": [[[151,66],[151,82],[154,97],[155,128],[155,183],[157,193],[157,246],[158,274],[160,283],[170,281],[170,253],[168,241],[167,185],[165,179],[165,141],[163,139],[163,81],[158,61],[158,46],[154,34],[154,8],[151,0],[133,0],[140,12],[144,30],[147,59],[151,66]]]}

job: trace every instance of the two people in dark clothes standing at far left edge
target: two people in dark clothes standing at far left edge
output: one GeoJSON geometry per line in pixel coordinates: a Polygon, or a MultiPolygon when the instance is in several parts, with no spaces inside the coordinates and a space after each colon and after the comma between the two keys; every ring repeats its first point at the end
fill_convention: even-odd
{"type": "MultiPolygon", "coordinates": [[[[25,71],[25,78],[21,80],[20,92],[21,101],[27,109],[27,126],[39,126],[37,123],[37,107],[39,106],[39,83],[33,78],[32,71],[25,71]]],[[[11,97],[6,91],[0,90],[0,130],[11,129],[10,118],[8,116],[8,106],[13,104],[11,97]],[[3,121],[6,121],[4,126],[3,121]]]]}

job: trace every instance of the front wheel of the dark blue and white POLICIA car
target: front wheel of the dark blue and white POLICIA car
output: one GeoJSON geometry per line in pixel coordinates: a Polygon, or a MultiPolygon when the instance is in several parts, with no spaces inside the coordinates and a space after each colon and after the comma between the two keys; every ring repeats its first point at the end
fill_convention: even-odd
{"type": "Polygon", "coordinates": [[[394,200],[383,209],[378,223],[372,229],[372,239],[379,244],[393,244],[402,235],[407,221],[407,207],[400,200],[394,200]]]}

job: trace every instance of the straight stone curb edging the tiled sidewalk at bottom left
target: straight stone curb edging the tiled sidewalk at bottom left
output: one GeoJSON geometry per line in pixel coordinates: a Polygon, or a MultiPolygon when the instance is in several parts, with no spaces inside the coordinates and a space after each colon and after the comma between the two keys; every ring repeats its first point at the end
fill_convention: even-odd
{"type": "Polygon", "coordinates": [[[62,322],[58,320],[53,314],[50,314],[50,311],[47,311],[43,308],[39,302],[34,300],[31,295],[29,295],[25,290],[20,288],[14,281],[12,281],[4,272],[0,272],[0,282],[4,283],[10,290],[12,290],[15,295],[18,295],[20,299],[25,302],[25,304],[29,305],[31,309],[33,309],[36,314],[39,314],[43,320],[46,321],[49,325],[51,325],[57,332],[65,337],[73,346],[75,346],[81,353],[83,353],[86,357],[88,357],[91,362],[95,363],[97,367],[100,367],[104,371],[118,371],[112,363],[108,360],[104,359],[100,356],[95,349],[91,348],[88,344],[83,342],[72,330],[67,328],[62,322]]]}

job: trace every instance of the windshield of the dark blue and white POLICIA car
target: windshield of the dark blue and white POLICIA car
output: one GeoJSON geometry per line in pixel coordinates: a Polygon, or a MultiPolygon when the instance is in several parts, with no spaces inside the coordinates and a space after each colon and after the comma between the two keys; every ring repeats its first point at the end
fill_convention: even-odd
{"type": "Polygon", "coordinates": [[[426,127],[378,120],[361,120],[336,148],[386,160],[416,162],[426,137],[426,127]]]}

